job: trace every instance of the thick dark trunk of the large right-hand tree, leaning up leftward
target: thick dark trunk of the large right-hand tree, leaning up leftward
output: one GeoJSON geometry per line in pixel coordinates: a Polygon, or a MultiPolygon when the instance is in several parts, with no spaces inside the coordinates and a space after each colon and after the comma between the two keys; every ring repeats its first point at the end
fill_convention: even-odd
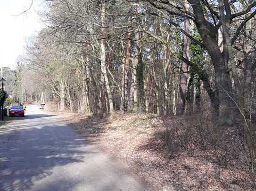
{"type": "MultiPolygon", "coordinates": [[[[199,0],[188,0],[194,11],[194,18],[202,42],[208,51],[215,69],[215,100],[212,105],[218,115],[220,122],[225,122],[232,118],[230,109],[232,101],[226,92],[231,93],[231,78],[227,71],[227,66],[223,59],[223,54],[218,46],[218,31],[215,26],[204,17],[204,10],[199,0]]],[[[205,82],[204,82],[205,86],[205,82]]],[[[209,93],[208,93],[209,94],[209,93]]]]}

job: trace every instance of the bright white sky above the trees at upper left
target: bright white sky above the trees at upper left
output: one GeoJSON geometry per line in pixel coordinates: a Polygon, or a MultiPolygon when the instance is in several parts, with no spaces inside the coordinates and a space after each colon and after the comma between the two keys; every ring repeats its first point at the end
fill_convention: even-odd
{"type": "Polygon", "coordinates": [[[25,39],[44,25],[37,12],[40,0],[0,0],[0,66],[15,68],[17,57],[25,52],[25,39]],[[19,15],[21,14],[21,15],[19,15]]]}

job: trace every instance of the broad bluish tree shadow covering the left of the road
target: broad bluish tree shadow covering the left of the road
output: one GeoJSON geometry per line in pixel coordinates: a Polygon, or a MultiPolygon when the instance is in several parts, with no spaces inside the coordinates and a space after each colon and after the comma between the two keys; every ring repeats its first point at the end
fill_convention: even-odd
{"type": "Polygon", "coordinates": [[[33,183],[52,174],[53,168],[83,162],[85,142],[67,132],[56,115],[27,115],[0,129],[0,191],[26,191],[33,183]],[[20,120],[23,120],[21,123],[20,120]],[[48,123],[46,123],[48,122],[48,123]],[[48,125],[44,125],[44,123],[48,125]]]}

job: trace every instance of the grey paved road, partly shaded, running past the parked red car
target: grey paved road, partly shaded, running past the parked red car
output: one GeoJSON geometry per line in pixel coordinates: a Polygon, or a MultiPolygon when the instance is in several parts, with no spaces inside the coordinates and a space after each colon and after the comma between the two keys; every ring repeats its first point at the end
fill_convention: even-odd
{"type": "Polygon", "coordinates": [[[150,190],[67,123],[34,105],[0,127],[0,191],[150,190]]]}

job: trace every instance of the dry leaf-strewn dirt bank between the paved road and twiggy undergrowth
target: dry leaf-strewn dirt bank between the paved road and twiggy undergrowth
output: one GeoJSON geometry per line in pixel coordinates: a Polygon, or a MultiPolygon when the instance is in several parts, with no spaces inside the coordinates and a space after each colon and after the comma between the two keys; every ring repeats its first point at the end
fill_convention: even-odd
{"type": "Polygon", "coordinates": [[[70,125],[85,136],[98,139],[107,152],[126,163],[157,191],[256,189],[248,167],[240,162],[241,156],[234,158],[232,151],[230,158],[221,152],[215,157],[216,151],[199,149],[191,142],[183,143],[189,144],[190,149],[175,145],[168,149],[163,119],[156,115],[116,113],[101,119],[77,114],[72,116],[70,125]],[[229,161],[220,164],[216,159],[219,155],[229,161]]]}

